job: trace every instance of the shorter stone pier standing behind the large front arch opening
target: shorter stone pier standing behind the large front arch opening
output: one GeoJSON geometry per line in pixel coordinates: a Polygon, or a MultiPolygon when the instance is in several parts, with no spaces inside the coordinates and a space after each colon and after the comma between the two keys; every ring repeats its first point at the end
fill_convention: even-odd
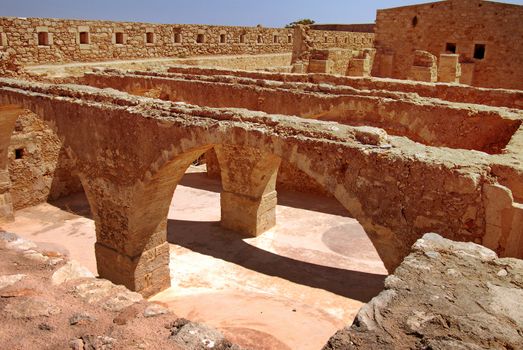
{"type": "Polygon", "coordinates": [[[245,236],[258,236],[276,225],[280,158],[238,146],[215,149],[223,186],[221,225],[245,236]]]}

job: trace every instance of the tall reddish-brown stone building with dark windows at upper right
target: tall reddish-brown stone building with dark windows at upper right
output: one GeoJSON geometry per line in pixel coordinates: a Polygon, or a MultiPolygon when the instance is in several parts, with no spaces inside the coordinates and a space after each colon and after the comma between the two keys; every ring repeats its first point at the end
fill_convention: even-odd
{"type": "Polygon", "coordinates": [[[415,50],[473,63],[475,86],[523,89],[523,6],[449,0],[378,10],[374,76],[406,79],[415,50]],[[449,45],[447,45],[449,44],[449,45]],[[484,58],[475,45],[485,45],[484,58]]]}

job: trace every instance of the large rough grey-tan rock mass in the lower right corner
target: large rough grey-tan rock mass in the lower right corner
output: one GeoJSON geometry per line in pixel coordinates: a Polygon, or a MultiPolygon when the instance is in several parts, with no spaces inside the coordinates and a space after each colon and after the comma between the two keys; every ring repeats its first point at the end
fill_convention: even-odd
{"type": "Polygon", "coordinates": [[[520,349],[523,260],[437,234],[418,240],[324,349],[520,349]]]}

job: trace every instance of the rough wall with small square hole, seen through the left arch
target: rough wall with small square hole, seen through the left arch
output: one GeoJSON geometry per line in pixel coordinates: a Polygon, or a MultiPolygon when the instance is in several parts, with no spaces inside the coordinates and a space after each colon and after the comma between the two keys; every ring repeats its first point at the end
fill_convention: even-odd
{"type": "Polygon", "coordinates": [[[16,210],[82,190],[80,180],[71,173],[74,164],[62,149],[62,142],[32,112],[16,121],[8,157],[16,210]]]}

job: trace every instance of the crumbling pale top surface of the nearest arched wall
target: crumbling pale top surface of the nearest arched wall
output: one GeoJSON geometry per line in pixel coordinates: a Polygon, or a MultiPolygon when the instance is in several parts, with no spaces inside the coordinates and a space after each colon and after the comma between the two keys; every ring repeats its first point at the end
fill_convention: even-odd
{"type": "MultiPolygon", "coordinates": [[[[483,152],[426,146],[402,136],[388,135],[385,130],[369,126],[349,126],[337,122],[307,120],[296,116],[268,114],[242,108],[210,108],[177,104],[154,98],[130,95],[114,89],[99,89],[85,85],[46,84],[0,78],[2,95],[22,95],[35,98],[30,105],[38,106],[42,99],[64,101],[77,105],[92,105],[126,113],[139,114],[173,127],[201,126],[202,123],[230,123],[251,133],[273,135],[282,139],[339,145],[361,152],[387,154],[392,158],[412,158],[430,166],[461,169],[472,173],[488,173],[492,156],[483,152]],[[40,100],[40,101],[39,101],[40,100]],[[420,158],[420,154],[423,157],[420,158]],[[471,157],[471,154],[474,154],[471,157]]],[[[9,100],[9,99],[8,99],[9,100]]],[[[5,103],[5,102],[4,102],[5,103]]],[[[9,102],[12,103],[12,102],[9,102]]],[[[327,146],[330,145],[330,146],[327,146]]]]}

